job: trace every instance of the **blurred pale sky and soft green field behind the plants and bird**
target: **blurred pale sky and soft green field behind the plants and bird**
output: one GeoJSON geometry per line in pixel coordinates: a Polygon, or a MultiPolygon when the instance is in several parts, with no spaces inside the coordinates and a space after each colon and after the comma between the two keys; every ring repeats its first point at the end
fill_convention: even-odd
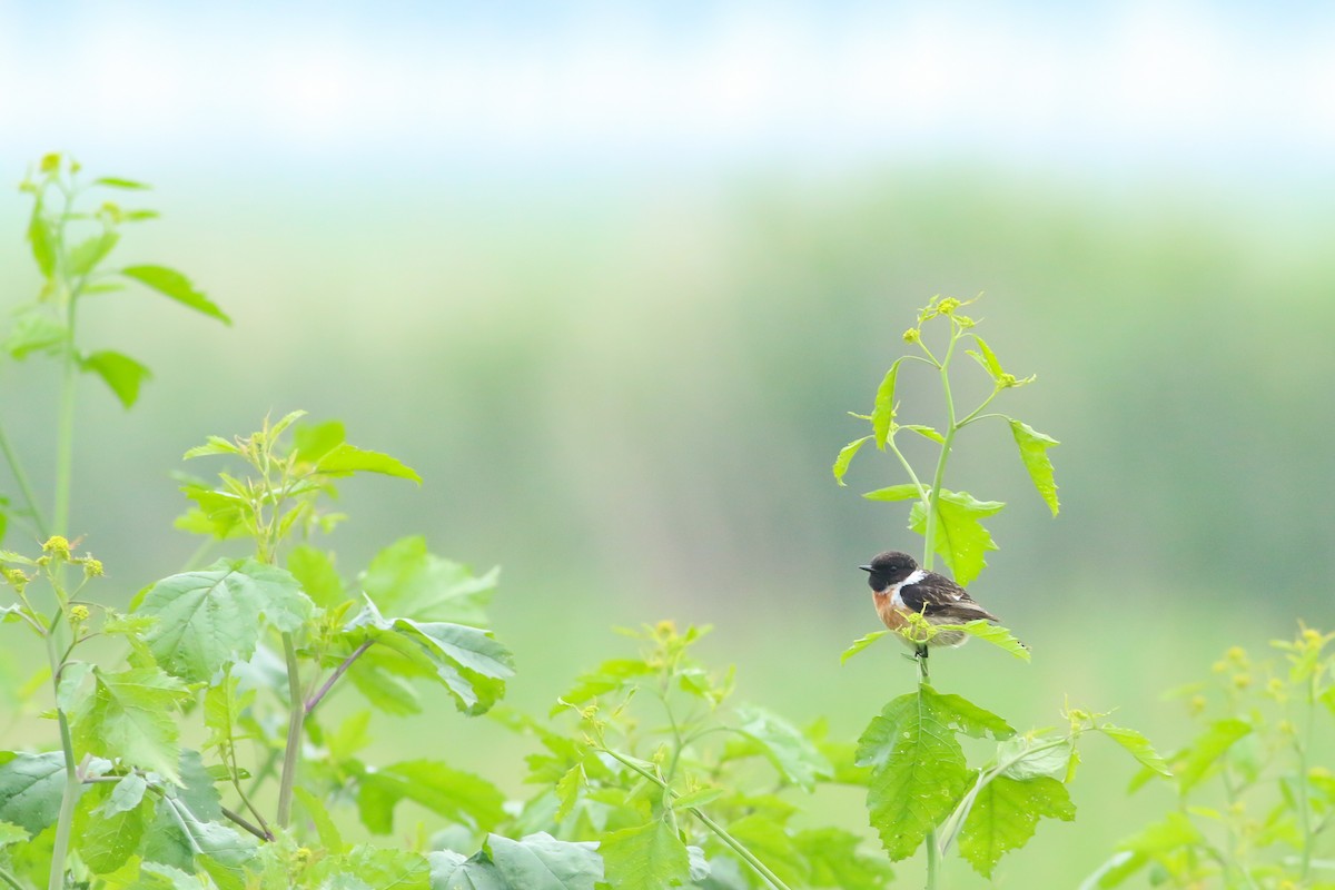
{"type": "MultiPolygon", "coordinates": [[[[1059,722],[1068,702],[1117,709],[1171,750],[1187,726],[1164,690],[1204,677],[1230,644],[1263,650],[1300,619],[1332,624],[1328,109],[1315,124],[1286,117],[1303,96],[1282,75],[1263,83],[1270,104],[1211,92],[1267,48],[1318,53],[1330,21],[1278,11],[1258,28],[1227,7],[1183,7],[1165,25],[1120,7],[1053,23],[1044,4],[934,19],[785,5],[780,20],[806,41],[782,56],[793,73],[756,51],[776,29],[749,7],[521,4],[489,17],[407,4],[391,17],[335,4],[312,23],[302,4],[212,19],[128,5],[115,19],[0,5],[0,75],[40,52],[56,72],[0,101],[9,177],[67,149],[93,175],[155,183],[148,203],[164,220],[128,235],[121,259],[187,271],[235,319],[224,330],[147,294],[88,306],[84,346],[156,374],[128,414],[91,380],[83,392],[75,530],[115,598],[195,547],[171,530],[183,499],[168,474],[186,448],[306,408],[426,479],[346,486],[352,519],[330,542],[344,574],[418,532],[443,555],[503,567],[493,615],[519,662],[517,706],[545,711],[578,670],[625,652],[611,626],[672,618],[716,626],[704,654],[737,663],[741,698],[800,722],[828,715],[852,738],[913,677],[889,646],[838,666],[877,627],[856,567],[920,543],[901,504],[858,496],[902,480],[892,459],[864,452],[849,487],[834,484],[830,462],[862,435],[845,411],[870,407],[917,307],[985,292],[980,332],[1007,370],[1039,375],[999,407],[1061,440],[1063,511],[1048,518],[1004,427],[961,436],[948,484],[1008,502],[991,526],[1001,550],[972,590],[1035,658],[969,646],[934,659],[939,689],[1019,727],[1059,722]],[[838,87],[868,71],[817,71],[858,35],[869,57],[884,37],[909,65],[894,52],[905,33],[932,72],[963,41],[1000,61],[1008,47],[1012,61],[1037,52],[1059,81],[1064,67],[1116,80],[1112,49],[1137,39],[1203,33],[1207,49],[1231,40],[1252,55],[1183,52],[1180,69],[1141,60],[1140,92],[1109,99],[1076,79],[1068,89],[1092,89],[1089,107],[1016,92],[1012,115],[989,111],[992,91],[1043,72],[999,65],[980,73],[991,87],[928,77],[934,92],[881,72],[884,107],[845,107],[838,87]],[[162,52],[136,55],[144,41],[162,52]],[[570,73],[589,47],[606,49],[593,56],[602,67],[570,73]],[[686,99],[708,96],[728,60],[744,84],[805,77],[825,92],[753,87],[684,111],[673,77],[686,99]],[[531,77],[489,80],[483,63],[531,77]],[[654,92],[645,71],[659,63],[668,87],[654,92]],[[434,64],[445,73],[425,77],[434,64]],[[1202,71],[1218,76],[1202,87],[1202,71]],[[545,76],[555,92],[515,99],[545,76]],[[617,83],[611,99],[581,92],[617,83]],[[275,95],[291,104],[266,105],[275,95]],[[657,113],[665,97],[677,104],[657,113]],[[144,113],[154,101],[158,115],[144,113]],[[510,117],[497,111],[506,101],[518,103],[510,117]],[[936,116],[896,116],[914,103],[936,116]]],[[[11,306],[36,290],[27,212],[17,192],[0,200],[11,306]]],[[[43,482],[51,371],[0,368],[3,420],[43,482]]],[[[901,375],[902,419],[939,422],[932,383],[901,375]]],[[[4,670],[25,677],[21,651],[4,670]]],[[[498,727],[453,713],[411,734],[394,726],[380,725],[383,757],[443,755],[519,791],[526,749],[498,727]]],[[[5,745],[27,741],[13,735],[5,745]]],[[[1079,883],[1169,806],[1160,789],[1128,798],[1132,773],[1092,741],[1077,821],[1041,826],[997,885],[1036,886],[1039,869],[1044,886],[1079,883]]],[[[856,795],[821,797],[812,818],[865,819],[856,795]]],[[[949,869],[951,886],[984,886],[961,862],[949,869]]]]}

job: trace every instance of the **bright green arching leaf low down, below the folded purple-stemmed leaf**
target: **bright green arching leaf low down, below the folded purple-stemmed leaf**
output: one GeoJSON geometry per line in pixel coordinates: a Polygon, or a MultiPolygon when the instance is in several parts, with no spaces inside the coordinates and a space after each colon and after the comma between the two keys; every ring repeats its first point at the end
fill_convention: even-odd
{"type": "Polygon", "coordinates": [[[400,801],[419,803],[477,831],[490,831],[505,819],[505,795],[494,785],[437,761],[406,761],[360,778],[356,805],[362,823],[371,831],[394,830],[394,807],[400,801]]]}

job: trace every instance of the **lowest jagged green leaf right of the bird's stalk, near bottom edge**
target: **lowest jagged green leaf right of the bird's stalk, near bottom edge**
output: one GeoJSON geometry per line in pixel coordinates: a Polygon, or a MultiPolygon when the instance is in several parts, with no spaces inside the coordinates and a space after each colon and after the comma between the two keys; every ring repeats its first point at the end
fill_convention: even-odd
{"type": "Polygon", "coordinates": [[[1029,842],[1043,817],[1076,818],[1067,786],[1047,775],[1027,781],[997,775],[973,799],[960,831],[960,855],[991,878],[1003,855],[1029,842]]]}

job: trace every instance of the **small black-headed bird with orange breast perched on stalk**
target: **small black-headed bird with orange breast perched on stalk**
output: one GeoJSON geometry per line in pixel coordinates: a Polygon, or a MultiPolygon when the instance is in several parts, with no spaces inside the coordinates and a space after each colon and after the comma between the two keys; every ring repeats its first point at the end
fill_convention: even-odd
{"type": "MultiPolygon", "coordinates": [[[[945,575],[920,568],[908,554],[886,550],[872,558],[866,566],[858,566],[868,572],[872,587],[872,600],[876,612],[890,630],[908,627],[910,614],[922,615],[929,624],[965,624],[985,619],[1000,622],[996,615],[973,602],[969,591],[960,587],[945,575]]],[[[926,658],[928,646],[961,646],[969,635],[959,630],[937,632],[926,643],[904,642],[916,648],[918,658],[926,658]]]]}

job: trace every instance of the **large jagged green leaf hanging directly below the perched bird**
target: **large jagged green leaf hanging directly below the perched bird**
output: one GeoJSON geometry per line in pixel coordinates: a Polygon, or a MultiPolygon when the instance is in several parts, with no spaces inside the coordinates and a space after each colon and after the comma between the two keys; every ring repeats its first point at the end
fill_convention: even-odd
{"type": "Polygon", "coordinates": [[[857,765],[872,767],[870,823],[894,861],[912,855],[951,815],[973,775],[949,726],[959,709],[941,698],[925,685],[901,695],[858,738],[857,765]]]}

